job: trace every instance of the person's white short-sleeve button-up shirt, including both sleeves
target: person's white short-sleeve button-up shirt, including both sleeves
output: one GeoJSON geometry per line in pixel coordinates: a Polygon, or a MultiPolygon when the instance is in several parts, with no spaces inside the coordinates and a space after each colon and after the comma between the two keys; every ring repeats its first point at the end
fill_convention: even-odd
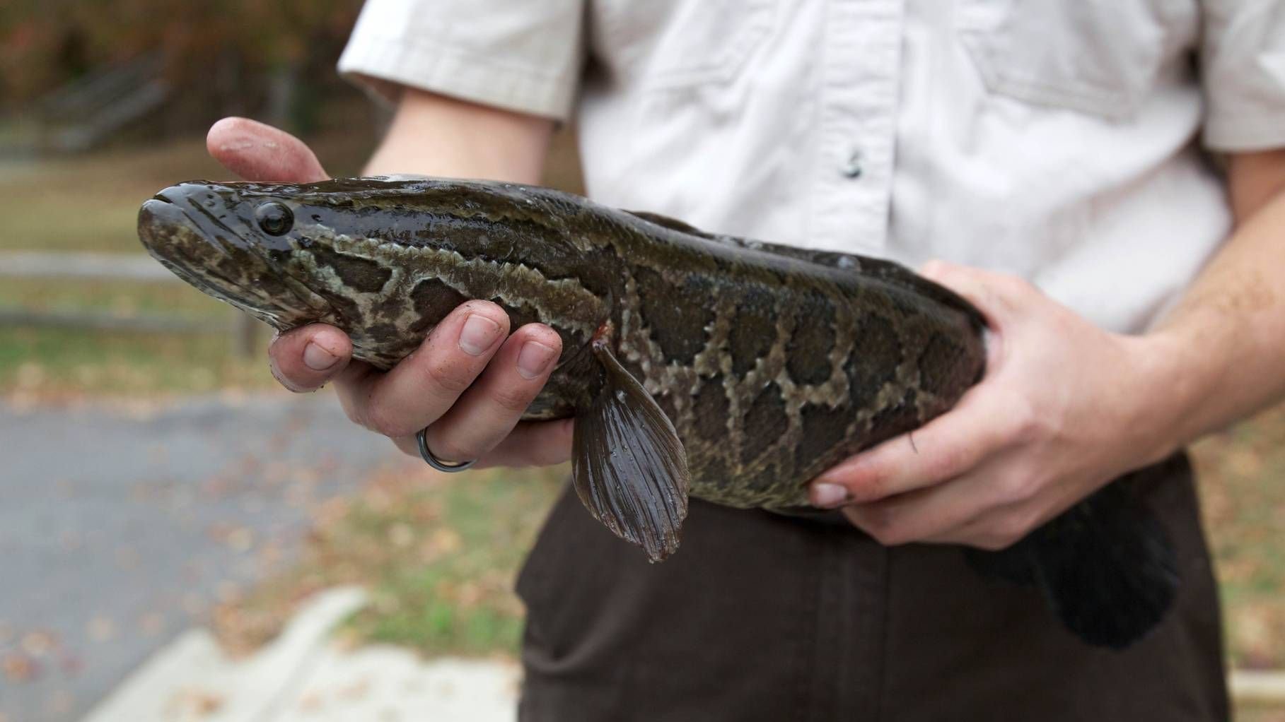
{"type": "Polygon", "coordinates": [[[339,69],[574,118],[599,202],[1121,331],[1230,230],[1204,150],[1285,146],[1285,0],[368,0],[339,69]]]}

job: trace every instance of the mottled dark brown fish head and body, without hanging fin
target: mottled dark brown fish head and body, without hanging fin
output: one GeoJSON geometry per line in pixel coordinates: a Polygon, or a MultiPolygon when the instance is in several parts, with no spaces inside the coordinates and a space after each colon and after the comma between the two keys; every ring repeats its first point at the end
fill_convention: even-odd
{"type": "Polygon", "coordinates": [[[526,419],[585,409],[613,351],[673,421],[691,495],[807,504],[837,461],[950,409],[983,373],[980,315],[873,258],[703,234],[648,213],[502,182],[193,181],[144,204],[144,245],[200,290],[278,329],[334,324],[389,367],[460,302],[541,321],[562,357],[526,419]],[[265,233],[256,213],[293,225],[265,233]]]}

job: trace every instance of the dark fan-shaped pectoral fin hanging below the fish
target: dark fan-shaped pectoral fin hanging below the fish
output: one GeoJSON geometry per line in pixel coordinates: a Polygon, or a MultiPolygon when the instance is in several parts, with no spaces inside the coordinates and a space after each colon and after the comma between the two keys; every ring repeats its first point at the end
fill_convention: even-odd
{"type": "Polygon", "coordinates": [[[607,383],[576,416],[572,482],[595,519],[659,561],[678,549],[691,475],[678,433],[605,344],[607,383]]]}

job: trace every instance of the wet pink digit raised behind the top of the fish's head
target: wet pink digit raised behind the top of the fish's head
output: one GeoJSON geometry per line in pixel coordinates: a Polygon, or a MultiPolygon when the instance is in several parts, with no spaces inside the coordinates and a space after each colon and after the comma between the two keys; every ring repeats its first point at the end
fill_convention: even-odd
{"type": "Polygon", "coordinates": [[[209,154],[238,176],[263,182],[314,182],[326,172],[293,135],[248,118],[224,118],[206,136],[209,154]]]}

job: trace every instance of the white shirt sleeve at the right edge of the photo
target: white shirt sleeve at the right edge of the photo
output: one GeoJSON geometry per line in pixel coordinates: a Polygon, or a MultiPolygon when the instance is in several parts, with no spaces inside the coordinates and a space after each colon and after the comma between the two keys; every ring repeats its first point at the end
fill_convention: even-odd
{"type": "Polygon", "coordinates": [[[1207,0],[1200,53],[1205,145],[1285,146],[1285,1],[1207,0]]]}

